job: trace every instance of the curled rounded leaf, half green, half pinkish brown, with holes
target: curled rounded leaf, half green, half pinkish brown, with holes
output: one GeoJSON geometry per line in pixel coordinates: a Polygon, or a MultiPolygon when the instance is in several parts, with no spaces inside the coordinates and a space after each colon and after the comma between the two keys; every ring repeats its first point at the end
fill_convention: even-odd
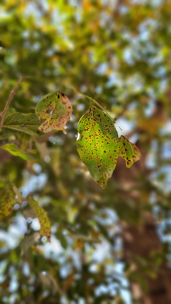
{"type": "Polygon", "coordinates": [[[72,105],[67,96],[55,91],[38,101],[35,113],[39,118],[46,118],[38,128],[40,131],[46,133],[51,130],[64,130],[72,114],[72,105]]]}

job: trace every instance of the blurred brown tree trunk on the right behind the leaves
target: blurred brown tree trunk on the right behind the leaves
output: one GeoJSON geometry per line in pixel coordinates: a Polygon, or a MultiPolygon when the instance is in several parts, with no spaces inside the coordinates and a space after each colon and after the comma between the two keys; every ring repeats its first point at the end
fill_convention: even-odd
{"type": "MultiPolygon", "coordinates": [[[[120,195],[124,198],[125,203],[131,199],[137,210],[139,210],[143,195],[143,187],[142,192],[140,190],[142,179],[140,181],[137,177],[142,174],[148,182],[149,170],[145,165],[148,147],[150,147],[151,140],[155,136],[157,138],[157,131],[161,127],[161,123],[164,124],[167,121],[165,113],[163,104],[156,102],[156,108],[149,123],[142,124],[145,129],[137,128],[139,133],[143,133],[143,142],[137,144],[142,154],[141,160],[130,169],[126,169],[123,159],[120,158],[113,174],[113,178],[120,182],[120,195]],[[153,134],[149,133],[151,124],[153,124],[153,134]]],[[[150,194],[150,190],[148,194],[150,194]]],[[[141,219],[137,224],[122,223],[123,257],[125,263],[130,265],[128,271],[130,271],[132,297],[134,303],[137,304],[171,304],[171,268],[164,258],[163,244],[157,235],[155,219],[150,212],[146,211],[148,205],[150,203],[147,199],[147,205],[143,205],[140,209],[141,219]],[[134,274],[137,275],[134,276],[134,274]],[[140,278],[147,284],[145,291],[139,284],[142,283],[140,278]]]]}

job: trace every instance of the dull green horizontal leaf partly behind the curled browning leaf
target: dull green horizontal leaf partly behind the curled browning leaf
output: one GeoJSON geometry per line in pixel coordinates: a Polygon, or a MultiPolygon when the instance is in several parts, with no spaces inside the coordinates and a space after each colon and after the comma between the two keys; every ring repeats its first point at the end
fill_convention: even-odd
{"type": "Polygon", "coordinates": [[[24,114],[16,112],[4,118],[3,128],[25,132],[29,135],[42,135],[38,130],[40,123],[37,115],[34,113],[24,114]]]}

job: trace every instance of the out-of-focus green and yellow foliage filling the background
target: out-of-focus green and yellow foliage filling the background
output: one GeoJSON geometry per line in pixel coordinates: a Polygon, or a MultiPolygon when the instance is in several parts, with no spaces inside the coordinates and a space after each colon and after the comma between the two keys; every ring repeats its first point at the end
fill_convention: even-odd
{"type": "MultiPolygon", "coordinates": [[[[143,275],[129,265],[123,274],[118,271],[120,222],[140,225],[148,211],[159,222],[166,220],[164,234],[170,228],[170,20],[167,0],[0,1],[0,111],[24,76],[10,105],[15,111],[34,114],[37,101],[58,90],[68,96],[74,113],[67,135],[52,131],[36,137],[36,144],[34,126],[32,136],[7,125],[0,133],[1,146],[34,151],[33,159],[25,160],[0,149],[0,196],[5,199],[12,185],[23,197],[32,193],[52,232],[46,243],[29,204],[14,205],[16,198],[6,198],[14,210],[0,223],[1,303],[121,304],[129,290],[125,277],[146,289],[143,275]],[[122,129],[131,126],[146,169],[132,175],[118,167],[104,190],[96,185],[75,143],[89,102],[70,88],[109,109],[122,129]]],[[[170,259],[170,239],[163,239],[160,256],[149,262],[152,276],[162,260],[170,259]]],[[[147,261],[138,262],[146,273],[147,261]]]]}

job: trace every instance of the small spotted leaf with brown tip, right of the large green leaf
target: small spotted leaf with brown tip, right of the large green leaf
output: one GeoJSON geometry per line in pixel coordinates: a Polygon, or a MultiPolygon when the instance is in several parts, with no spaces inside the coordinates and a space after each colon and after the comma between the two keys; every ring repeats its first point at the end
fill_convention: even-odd
{"type": "Polygon", "coordinates": [[[119,138],[118,147],[118,155],[125,160],[127,168],[130,168],[141,157],[141,153],[139,152],[137,146],[123,135],[121,135],[119,138]]]}

